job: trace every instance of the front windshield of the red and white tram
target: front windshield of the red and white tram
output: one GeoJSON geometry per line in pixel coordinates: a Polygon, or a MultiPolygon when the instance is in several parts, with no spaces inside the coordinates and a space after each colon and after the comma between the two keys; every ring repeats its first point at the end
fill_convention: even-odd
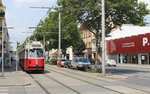
{"type": "Polygon", "coordinates": [[[29,57],[30,58],[42,58],[43,50],[42,49],[30,49],[29,50],[29,57]]]}

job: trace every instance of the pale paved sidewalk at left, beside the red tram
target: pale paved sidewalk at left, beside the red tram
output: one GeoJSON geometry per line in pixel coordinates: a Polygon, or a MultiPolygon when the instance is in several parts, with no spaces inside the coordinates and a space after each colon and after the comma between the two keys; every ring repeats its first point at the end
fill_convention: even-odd
{"type": "Polygon", "coordinates": [[[4,68],[4,76],[2,77],[0,68],[0,86],[27,86],[31,83],[26,80],[26,74],[20,69],[16,72],[15,64],[11,68],[4,68]]]}

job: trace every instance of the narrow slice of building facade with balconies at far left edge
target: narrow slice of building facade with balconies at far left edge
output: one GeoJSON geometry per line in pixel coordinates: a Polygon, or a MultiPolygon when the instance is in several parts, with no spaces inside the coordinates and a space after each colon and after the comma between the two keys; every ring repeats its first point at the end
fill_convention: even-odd
{"type": "Polygon", "coordinates": [[[10,36],[5,21],[5,9],[2,0],[0,0],[0,57],[2,57],[2,38],[3,38],[3,52],[4,52],[4,65],[10,66],[10,36]]]}

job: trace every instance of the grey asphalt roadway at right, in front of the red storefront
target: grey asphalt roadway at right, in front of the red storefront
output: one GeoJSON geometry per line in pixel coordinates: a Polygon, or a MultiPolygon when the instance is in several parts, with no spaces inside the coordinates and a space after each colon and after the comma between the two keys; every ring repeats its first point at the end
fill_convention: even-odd
{"type": "Polygon", "coordinates": [[[150,70],[148,69],[106,67],[106,71],[113,75],[128,76],[128,79],[118,81],[117,83],[119,84],[136,87],[150,92],[150,90],[147,89],[150,87],[150,70]]]}

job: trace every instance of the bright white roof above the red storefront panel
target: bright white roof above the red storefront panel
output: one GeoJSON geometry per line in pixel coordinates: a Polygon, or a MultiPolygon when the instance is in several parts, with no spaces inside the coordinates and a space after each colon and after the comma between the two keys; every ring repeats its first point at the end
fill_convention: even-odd
{"type": "Polygon", "coordinates": [[[146,33],[150,33],[149,26],[123,25],[122,27],[119,27],[113,30],[109,34],[110,37],[107,37],[106,40],[137,36],[137,35],[146,34],[146,33]]]}

